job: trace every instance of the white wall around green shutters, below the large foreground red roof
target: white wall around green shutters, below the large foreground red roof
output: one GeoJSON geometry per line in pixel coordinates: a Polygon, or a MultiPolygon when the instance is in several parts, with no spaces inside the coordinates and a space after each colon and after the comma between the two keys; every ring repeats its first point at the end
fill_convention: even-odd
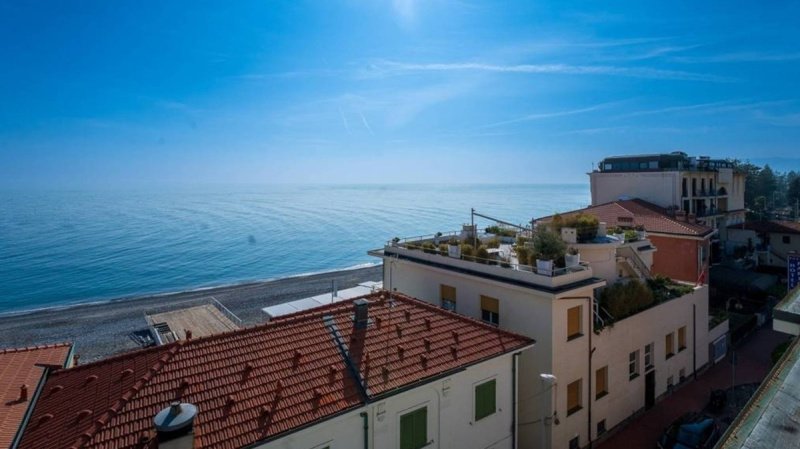
{"type": "MultiPolygon", "coordinates": [[[[530,352],[530,349],[525,352],[530,352]]],[[[426,406],[430,441],[426,449],[510,449],[513,447],[512,362],[512,354],[488,360],[452,376],[367,404],[259,448],[363,448],[362,412],[368,415],[370,448],[399,448],[400,416],[426,406]],[[491,379],[497,381],[497,411],[475,422],[475,386],[491,379]]]]}

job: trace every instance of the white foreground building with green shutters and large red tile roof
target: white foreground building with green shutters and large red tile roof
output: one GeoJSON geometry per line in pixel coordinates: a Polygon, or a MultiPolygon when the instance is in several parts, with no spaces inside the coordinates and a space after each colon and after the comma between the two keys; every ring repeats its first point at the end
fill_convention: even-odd
{"type": "Polygon", "coordinates": [[[513,448],[533,345],[376,292],[54,370],[19,448],[513,448]]]}

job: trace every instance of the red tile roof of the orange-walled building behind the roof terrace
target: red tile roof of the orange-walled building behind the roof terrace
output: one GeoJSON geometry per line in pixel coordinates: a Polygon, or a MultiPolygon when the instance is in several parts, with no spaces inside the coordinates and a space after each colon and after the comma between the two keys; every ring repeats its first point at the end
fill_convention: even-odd
{"type": "MultiPolygon", "coordinates": [[[[561,216],[567,217],[580,212],[596,216],[598,220],[605,222],[608,227],[620,226],[630,228],[642,225],[647,232],[692,237],[705,237],[711,235],[713,232],[713,229],[708,226],[673,217],[663,207],[638,198],[589,206],[585,209],[564,212],[561,216]]],[[[553,216],[551,215],[539,218],[536,221],[549,222],[552,218],[553,216]]]]}

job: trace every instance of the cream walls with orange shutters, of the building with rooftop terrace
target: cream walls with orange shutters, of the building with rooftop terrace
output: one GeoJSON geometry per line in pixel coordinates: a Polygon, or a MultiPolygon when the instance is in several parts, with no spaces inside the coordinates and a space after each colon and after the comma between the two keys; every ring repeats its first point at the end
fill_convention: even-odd
{"type": "Polygon", "coordinates": [[[407,243],[371,252],[388,289],[537,341],[520,359],[520,447],[585,447],[709,362],[705,286],[623,319],[599,308],[599,290],[641,274],[617,255],[633,247],[652,265],[652,251],[637,251],[649,241],[573,244],[581,263],[551,274],[513,257],[484,264],[407,243]]]}

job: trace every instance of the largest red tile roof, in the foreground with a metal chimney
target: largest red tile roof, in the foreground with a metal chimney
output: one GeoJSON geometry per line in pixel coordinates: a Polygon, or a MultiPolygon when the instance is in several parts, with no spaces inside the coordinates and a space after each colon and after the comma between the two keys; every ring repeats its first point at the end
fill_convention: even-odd
{"type": "Polygon", "coordinates": [[[153,417],[180,398],[199,410],[195,448],[238,448],[360,406],[366,400],[362,385],[370,397],[391,394],[533,343],[393,296],[391,303],[381,293],[366,297],[372,324],[362,330],[354,329],[352,301],[343,301],[56,371],[20,447],[146,447],[154,436],[153,417]],[[347,345],[354,371],[331,325],[347,345]]]}

